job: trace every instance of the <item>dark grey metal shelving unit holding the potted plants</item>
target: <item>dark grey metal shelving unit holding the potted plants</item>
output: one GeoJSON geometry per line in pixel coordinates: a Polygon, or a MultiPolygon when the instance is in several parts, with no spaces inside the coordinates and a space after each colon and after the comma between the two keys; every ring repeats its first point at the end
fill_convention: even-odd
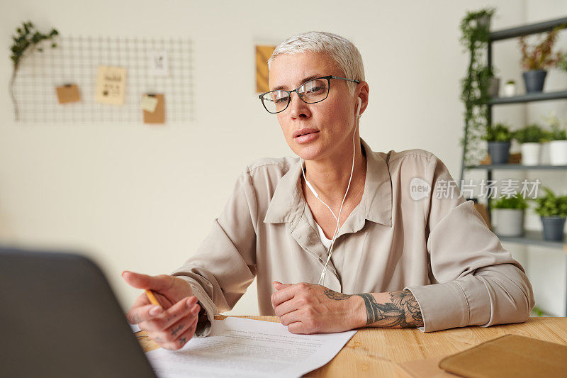
{"type": "MultiPolygon", "coordinates": [[[[567,23],[567,17],[564,18],[557,18],[556,20],[544,21],[540,23],[533,23],[530,25],[520,26],[516,28],[508,28],[504,30],[497,30],[490,32],[489,41],[488,41],[488,54],[487,54],[487,61],[488,67],[492,67],[492,44],[498,40],[505,40],[510,38],[518,38],[522,35],[530,35],[536,33],[544,33],[549,30],[552,30],[556,26],[563,25],[567,23]]],[[[523,104],[528,102],[534,101],[549,101],[549,100],[557,100],[557,99],[567,99],[567,90],[566,91],[555,91],[555,92],[541,92],[541,93],[529,93],[529,94],[522,94],[519,96],[513,97],[496,97],[489,99],[486,103],[488,106],[488,124],[492,123],[492,116],[493,116],[493,106],[500,106],[506,104],[523,104]]],[[[493,171],[495,170],[563,170],[567,172],[567,165],[535,165],[535,166],[528,166],[528,165],[521,165],[521,164],[493,164],[493,165],[469,165],[465,166],[465,148],[463,148],[463,164],[461,165],[461,179],[464,178],[464,173],[466,170],[469,169],[484,169],[486,171],[486,176],[488,180],[492,179],[493,171]]],[[[490,201],[488,201],[488,216],[491,218],[490,214],[490,201]]],[[[566,242],[552,242],[548,240],[543,240],[541,232],[538,231],[531,231],[528,230],[524,233],[523,237],[519,238],[507,238],[507,237],[500,237],[500,240],[513,242],[513,243],[521,243],[527,245],[540,245],[549,248],[563,248],[565,252],[567,252],[567,244],[566,242]]],[[[567,240],[567,239],[566,239],[567,240]]]]}

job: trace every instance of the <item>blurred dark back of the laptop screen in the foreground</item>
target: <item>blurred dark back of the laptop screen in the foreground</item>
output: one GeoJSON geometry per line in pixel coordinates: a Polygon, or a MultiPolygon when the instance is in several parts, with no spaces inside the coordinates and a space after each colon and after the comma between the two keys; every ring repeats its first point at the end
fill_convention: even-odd
{"type": "Polygon", "coordinates": [[[101,269],[0,247],[0,377],[154,377],[101,269]]]}

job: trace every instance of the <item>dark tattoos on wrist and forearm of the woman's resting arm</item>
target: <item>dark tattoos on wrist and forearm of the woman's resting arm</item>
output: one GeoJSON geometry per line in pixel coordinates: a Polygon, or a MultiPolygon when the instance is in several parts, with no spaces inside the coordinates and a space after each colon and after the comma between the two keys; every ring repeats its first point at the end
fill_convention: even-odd
{"type": "MultiPolygon", "coordinates": [[[[392,291],[389,294],[391,302],[384,304],[376,302],[376,299],[370,293],[352,294],[360,296],[364,301],[367,326],[385,328],[415,328],[423,326],[421,308],[410,290],[392,291]]],[[[349,299],[352,296],[329,289],[325,290],[325,295],[336,301],[349,299]]]]}

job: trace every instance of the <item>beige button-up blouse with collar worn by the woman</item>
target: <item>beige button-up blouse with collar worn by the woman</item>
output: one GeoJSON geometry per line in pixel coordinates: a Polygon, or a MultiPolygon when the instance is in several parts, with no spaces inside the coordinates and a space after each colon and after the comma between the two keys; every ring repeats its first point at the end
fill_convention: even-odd
{"type": "MultiPolygon", "coordinates": [[[[361,145],[364,194],[339,230],[324,286],[345,294],[410,289],[424,332],[526,321],[534,296],[524,268],[473,201],[437,189],[453,180],[443,162],[425,150],[361,145]]],[[[210,333],[213,315],[230,310],[254,277],[261,315],[274,315],[272,281],[318,283],[327,250],[301,191],[300,164],[283,157],[246,167],[196,255],[172,273],[206,310],[197,336],[210,333]]]]}

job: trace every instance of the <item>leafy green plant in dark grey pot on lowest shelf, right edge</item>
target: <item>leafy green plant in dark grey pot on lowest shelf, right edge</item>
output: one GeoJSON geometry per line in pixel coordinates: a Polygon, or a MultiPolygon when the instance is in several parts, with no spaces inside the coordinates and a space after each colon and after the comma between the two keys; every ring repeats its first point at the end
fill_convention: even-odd
{"type": "Polygon", "coordinates": [[[545,196],[532,199],[537,204],[534,211],[544,226],[544,239],[563,240],[563,228],[567,217],[567,196],[556,196],[551,189],[544,187],[545,196]]]}

